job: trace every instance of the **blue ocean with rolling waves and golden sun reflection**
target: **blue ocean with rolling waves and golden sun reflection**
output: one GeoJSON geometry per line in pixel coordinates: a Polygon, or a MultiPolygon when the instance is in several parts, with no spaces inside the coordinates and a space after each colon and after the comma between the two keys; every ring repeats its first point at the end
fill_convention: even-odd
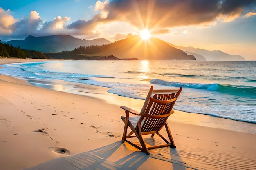
{"type": "Polygon", "coordinates": [[[82,95],[83,86],[58,84],[102,86],[108,93],[142,100],[150,86],[182,86],[175,110],[256,124],[256,61],[51,60],[2,65],[0,74],[82,95]]]}

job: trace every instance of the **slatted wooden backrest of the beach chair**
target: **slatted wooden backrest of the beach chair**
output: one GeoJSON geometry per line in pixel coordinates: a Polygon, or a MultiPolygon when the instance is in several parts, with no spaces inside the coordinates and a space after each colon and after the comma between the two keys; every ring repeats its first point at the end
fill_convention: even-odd
{"type": "Polygon", "coordinates": [[[182,87],[160,90],[150,88],[140,113],[142,132],[160,130],[164,126],[181,91],[182,87]]]}

